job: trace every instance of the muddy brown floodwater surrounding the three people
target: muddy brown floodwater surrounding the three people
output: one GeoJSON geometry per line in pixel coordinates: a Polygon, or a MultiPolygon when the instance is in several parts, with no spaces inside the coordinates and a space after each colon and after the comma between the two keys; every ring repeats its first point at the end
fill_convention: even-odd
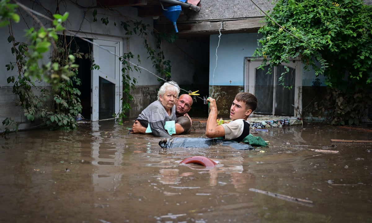
{"type": "Polygon", "coordinates": [[[372,144],[322,148],[371,132],[304,124],[253,131],[268,148],[161,151],[130,126],[0,138],[0,222],[372,222],[372,144]],[[218,165],[179,164],[194,155],[218,165]]]}

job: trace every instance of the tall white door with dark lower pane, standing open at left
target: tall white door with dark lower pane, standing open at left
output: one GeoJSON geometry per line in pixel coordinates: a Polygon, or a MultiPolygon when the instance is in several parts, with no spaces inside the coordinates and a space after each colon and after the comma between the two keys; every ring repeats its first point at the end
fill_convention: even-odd
{"type": "Polygon", "coordinates": [[[94,64],[92,72],[92,121],[113,119],[119,113],[121,90],[122,40],[119,38],[93,39],[94,64]]]}

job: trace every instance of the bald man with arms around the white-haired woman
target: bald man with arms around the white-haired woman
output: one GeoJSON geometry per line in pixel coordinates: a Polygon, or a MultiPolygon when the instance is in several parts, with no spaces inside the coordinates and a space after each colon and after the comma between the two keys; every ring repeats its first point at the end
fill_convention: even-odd
{"type": "MultiPolygon", "coordinates": [[[[192,103],[192,97],[188,94],[181,94],[178,97],[176,102],[176,135],[190,133],[192,122],[187,112],[190,111],[192,103]]],[[[136,120],[129,132],[134,134],[144,134],[146,132],[146,128],[136,120]]]]}

